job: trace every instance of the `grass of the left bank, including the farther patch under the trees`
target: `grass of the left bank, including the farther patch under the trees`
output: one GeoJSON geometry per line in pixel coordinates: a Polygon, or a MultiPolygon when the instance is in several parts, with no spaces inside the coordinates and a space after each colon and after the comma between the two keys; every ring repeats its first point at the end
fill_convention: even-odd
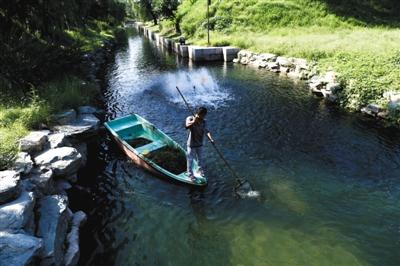
{"type": "MultiPolygon", "coordinates": [[[[100,49],[119,30],[104,22],[93,21],[90,27],[70,29],[66,33],[77,52],[87,53],[100,49]]],[[[9,167],[15,160],[18,139],[29,130],[49,125],[52,114],[67,108],[96,104],[98,85],[86,81],[85,74],[77,73],[76,69],[80,66],[74,65],[52,81],[32,85],[28,92],[9,87],[6,83],[0,85],[0,170],[9,167]]]]}

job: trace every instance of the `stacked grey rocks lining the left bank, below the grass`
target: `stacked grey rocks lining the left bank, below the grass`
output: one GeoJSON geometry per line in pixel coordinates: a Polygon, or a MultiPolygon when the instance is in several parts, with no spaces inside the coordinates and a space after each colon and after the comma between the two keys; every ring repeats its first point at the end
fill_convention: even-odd
{"type": "Polygon", "coordinates": [[[82,211],[69,209],[67,190],[86,163],[87,140],[99,130],[90,106],[54,116],[50,130],[20,140],[12,169],[0,172],[0,264],[76,265],[82,211]]]}

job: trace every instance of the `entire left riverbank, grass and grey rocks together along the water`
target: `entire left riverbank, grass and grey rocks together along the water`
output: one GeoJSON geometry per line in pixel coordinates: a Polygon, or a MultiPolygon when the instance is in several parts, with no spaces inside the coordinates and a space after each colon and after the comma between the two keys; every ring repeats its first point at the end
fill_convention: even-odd
{"type": "Polygon", "coordinates": [[[75,199],[67,192],[86,165],[87,145],[96,140],[104,117],[98,109],[102,102],[97,76],[118,43],[116,31],[110,29],[109,34],[80,36],[84,53],[80,63],[71,66],[80,69],[80,75],[66,70],[58,79],[32,87],[22,99],[7,90],[1,95],[2,263],[78,263],[79,228],[86,214],[70,207],[75,199]]]}

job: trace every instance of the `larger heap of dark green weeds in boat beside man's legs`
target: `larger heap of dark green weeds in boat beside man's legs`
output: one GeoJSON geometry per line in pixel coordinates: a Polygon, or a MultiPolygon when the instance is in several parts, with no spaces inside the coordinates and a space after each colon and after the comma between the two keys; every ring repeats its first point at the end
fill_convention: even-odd
{"type": "Polygon", "coordinates": [[[175,175],[186,171],[186,156],[177,148],[167,146],[145,156],[175,175]]]}

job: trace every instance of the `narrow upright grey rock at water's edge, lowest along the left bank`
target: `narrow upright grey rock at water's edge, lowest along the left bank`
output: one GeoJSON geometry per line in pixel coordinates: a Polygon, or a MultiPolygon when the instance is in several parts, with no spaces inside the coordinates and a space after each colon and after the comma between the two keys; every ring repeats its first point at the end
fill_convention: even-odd
{"type": "Polygon", "coordinates": [[[86,222],[86,214],[82,211],[74,213],[71,231],[68,233],[68,249],[65,254],[64,265],[75,266],[79,261],[79,228],[86,222]]]}

